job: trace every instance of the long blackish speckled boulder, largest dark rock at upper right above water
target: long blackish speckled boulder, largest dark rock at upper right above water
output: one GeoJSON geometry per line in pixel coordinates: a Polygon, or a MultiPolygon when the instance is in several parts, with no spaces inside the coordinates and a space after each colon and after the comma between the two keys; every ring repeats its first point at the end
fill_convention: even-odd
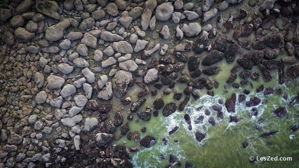
{"type": "Polygon", "coordinates": [[[257,40],[253,43],[253,48],[256,50],[263,49],[266,46],[271,48],[281,48],[284,45],[283,36],[281,34],[272,34],[257,40]]]}

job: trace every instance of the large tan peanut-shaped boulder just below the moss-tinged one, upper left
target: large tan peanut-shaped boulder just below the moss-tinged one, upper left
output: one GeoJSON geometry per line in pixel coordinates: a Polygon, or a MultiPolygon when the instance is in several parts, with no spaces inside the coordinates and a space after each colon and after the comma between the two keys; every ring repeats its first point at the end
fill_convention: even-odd
{"type": "MultiPolygon", "coordinates": [[[[42,1],[42,2],[45,2],[45,1],[42,1]]],[[[45,39],[47,39],[49,41],[57,41],[57,40],[62,39],[64,30],[66,28],[68,28],[69,26],[70,26],[70,21],[68,19],[63,19],[62,22],[59,22],[56,25],[50,26],[46,30],[45,39]]]]}

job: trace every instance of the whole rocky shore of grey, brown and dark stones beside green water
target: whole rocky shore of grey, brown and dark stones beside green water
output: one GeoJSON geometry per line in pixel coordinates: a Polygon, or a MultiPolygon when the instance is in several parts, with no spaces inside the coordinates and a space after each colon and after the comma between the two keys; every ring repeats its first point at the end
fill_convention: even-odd
{"type": "MultiPolygon", "coordinates": [[[[12,0],[0,8],[0,23],[0,168],[133,167],[130,152],[149,148],[156,139],[131,132],[113,100],[130,106],[128,120],[133,113],[150,120],[159,109],[167,117],[183,111],[190,98],[198,100],[196,89],[214,95],[219,83],[213,75],[222,69],[213,65],[221,61],[237,60],[226,81],[235,88],[260,81],[260,73],[271,81],[275,70],[280,84],[299,77],[297,0],[12,0]],[[152,57],[155,52],[160,58],[152,57]],[[251,71],[254,66],[260,71],[251,71]],[[158,94],[164,85],[163,94],[170,94],[176,83],[187,84],[174,95],[174,100],[185,95],[179,105],[164,105],[161,98],[139,109],[144,96],[158,94]],[[126,96],[135,84],[142,88],[137,100],[126,96]],[[118,127],[121,134],[115,135],[118,127]],[[141,146],[113,145],[125,135],[141,146]]],[[[274,93],[263,85],[258,91],[274,93]]],[[[245,96],[226,100],[228,112],[235,112],[237,100],[244,102],[245,96]]],[[[257,97],[245,102],[259,103],[257,97]]],[[[287,112],[279,107],[274,114],[283,118],[287,112]]],[[[184,118],[190,123],[187,114],[184,118]]],[[[209,122],[215,125],[213,118],[209,122]]],[[[195,136],[205,138],[200,132],[195,136]]],[[[170,163],[179,164],[172,155],[170,163]]]]}

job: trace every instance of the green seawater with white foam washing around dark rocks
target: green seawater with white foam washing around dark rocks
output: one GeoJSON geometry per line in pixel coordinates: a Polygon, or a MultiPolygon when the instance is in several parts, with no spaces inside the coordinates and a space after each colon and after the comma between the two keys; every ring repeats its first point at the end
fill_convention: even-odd
{"type": "MultiPolygon", "coordinates": [[[[284,55],[279,56],[277,59],[280,59],[284,55]]],[[[238,57],[238,56],[237,56],[238,57]]],[[[237,58],[236,58],[237,60],[237,58]]],[[[292,81],[290,87],[285,85],[277,84],[277,71],[272,70],[272,80],[270,82],[264,82],[262,74],[257,69],[257,66],[254,67],[252,71],[257,71],[260,73],[260,82],[253,81],[253,87],[249,84],[242,88],[235,89],[231,84],[226,84],[225,81],[229,77],[230,70],[233,65],[236,64],[236,61],[227,64],[225,60],[219,62],[216,65],[220,66],[222,71],[219,72],[214,78],[219,82],[218,88],[213,88],[215,97],[210,97],[206,95],[207,90],[195,90],[201,95],[201,98],[198,101],[195,101],[193,97],[190,97],[190,101],[187,104],[183,112],[175,112],[169,117],[164,117],[162,115],[162,109],[159,110],[158,117],[152,115],[150,121],[143,121],[138,118],[136,114],[132,114],[134,119],[128,121],[130,126],[130,131],[138,131],[141,134],[141,138],[150,135],[156,138],[157,143],[149,149],[141,147],[139,152],[132,152],[132,162],[134,167],[140,168],[154,168],[154,167],[166,167],[170,165],[169,155],[173,154],[181,162],[180,167],[184,167],[186,162],[190,162],[194,167],[299,167],[299,143],[298,140],[289,138],[290,135],[299,136],[298,132],[291,132],[290,127],[298,124],[298,105],[290,106],[288,101],[292,99],[298,92],[298,80],[292,81]],[[262,93],[256,94],[255,90],[258,86],[263,84],[265,88],[273,87],[282,88],[283,93],[288,93],[288,101],[283,100],[282,95],[271,94],[264,97],[262,93]],[[226,85],[226,89],[224,88],[226,85]],[[249,112],[251,108],[246,108],[244,103],[236,104],[236,113],[230,114],[226,112],[225,107],[222,107],[224,112],[224,119],[219,120],[216,117],[216,112],[211,111],[211,116],[216,120],[215,126],[210,126],[207,123],[208,117],[205,116],[204,124],[194,124],[192,123],[192,131],[187,129],[187,124],[184,121],[184,115],[188,113],[191,117],[191,120],[195,120],[199,114],[204,114],[204,110],[209,106],[216,104],[218,99],[226,100],[231,97],[232,93],[241,94],[244,89],[251,91],[246,97],[246,100],[249,100],[250,97],[258,96],[262,99],[262,102],[257,109],[259,114],[257,117],[251,118],[249,112]],[[198,106],[203,106],[202,110],[197,111],[195,108],[198,106]],[[278,106],[285,106],[288,110],[287,117],[284,119],[278,119],[274,116],[272,111],[278,106]],[[237,116],[239,122],[236,124],[229,123],[229,116],[237,116]],[[136,122],[138,120],[138,122],[136,122]],[[169,136],[168,132],[174,127],[179,126],[179,130],[169,136]],[[146,132],[141,132],[143,127],[147,128],[146,132]],[[257,130],[256,127],[259,129],[257,130]],[[269,131],[278,131],[277,134],[270,138],[259,138],[261,134],[269,131]],[[195,132],[200,131],[206,135],[206,138],[202,143],[198,143],[195,139],[195,132]],[[169,141],[168,145],[164,145],[162,139],[167,138],[169,141]],[[174,142],[177,140],[178,142],[174,142]],[[242,143],[248,142],[249,146],[243,148],[242,143]],[[161,156],[164,157],[161,157],[161,156]],[[256,163],[251,163],[249,161],[250,156],[271,156],[271,157],[292,157],[292,161],[259,161],[256,163]]],[[[289,65],[286,65],[287,68],[289,65]]],[[[185,67],[187,68],[187,66],[185,67]]],[[[202,65],[200,65],[201,69],[202,65]]],[[[241,68],[242,70],[242,68],[241,68]]],[[[240,71],[241,71],[240,70],[240,71]]],[[[239,71],[237,72],[237,74],[239,71]]],[[[208,76],[202,74],[201,77],[208,76]]],[[[240,82],[238,77],[235,82],[240,82]]],[[[285,81],[286,83],[287,81],[285,81]]],[[[177,83],[175,89],[177,92],[182,92],[186,87],[186,84],[177,83]]],[[[158,90],[158,94],[154,97],[149,95],[145,96],[147,98],[146,103],[139,110],[144,110],[147,106],[152,106],[152,103],[155,99],[161,98],[162,91],[166,88],[164,86],[158,90]]],[[[141,88],[135,85],[131,95],[138,93],[141,88]]],[[[184,99],[182,96],[181,100],[176,101],[173,99],[173,92],[169,95],[164,95],[164,103],[175,102],[176,105],[184,99]]],[[[134,101],[134,97],[133,97],[134,101]]],[[[125,107],[128,109],[128,107],[125,107]]],[[[126,116],[124,116],[126,117],[126,116]]],[[[118,130],[117,134],[120,132],[118,130]]],[[[127,147],[137,146],[139,143],[134,140],[128,140],[126,136],[116,141],[116,144],[124,144],[127,147]]],[[[177,166],[179,167],[179,166],[177,166]]]]}

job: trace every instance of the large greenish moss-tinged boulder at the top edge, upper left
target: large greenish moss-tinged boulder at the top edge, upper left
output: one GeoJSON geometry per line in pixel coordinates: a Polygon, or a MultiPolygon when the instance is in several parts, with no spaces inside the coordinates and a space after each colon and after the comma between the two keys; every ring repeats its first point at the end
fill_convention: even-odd
{"type": "Polygon", "coordinates": [[[58,4],[55,1],[39,1],[36,3],[36,11],[51,18],[59,20],[59,14],[57,13],[58,4]]]}

